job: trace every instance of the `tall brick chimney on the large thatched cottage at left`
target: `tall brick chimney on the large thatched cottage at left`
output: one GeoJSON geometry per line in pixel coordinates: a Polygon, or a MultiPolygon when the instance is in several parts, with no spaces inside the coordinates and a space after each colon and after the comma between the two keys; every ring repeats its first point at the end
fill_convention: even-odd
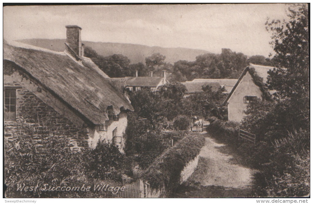
{"type": "Polygon", "coordinates": [[[81,43],[81,28],[77,25],[67,25],[65,50],[74,58],[79,60],[83,56],[83,47],[81,43]]]}

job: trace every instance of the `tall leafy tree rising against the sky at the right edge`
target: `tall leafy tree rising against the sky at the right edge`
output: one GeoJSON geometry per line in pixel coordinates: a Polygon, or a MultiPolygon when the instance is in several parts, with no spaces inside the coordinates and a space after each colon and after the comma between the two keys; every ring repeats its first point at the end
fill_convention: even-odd
{"type": "Polygon", "coordinates": [[[307,4],[291,5],[289,20],[267,21],[272,32],[270,43],[279,68],[269,72],[269,89],[290,111],[290,131],[309,126],[309,34],[307,4]],[[280,26],[277,26],[281,23],[280,26]],[[307,121],[307,122],[305,122],[307,121]]]}

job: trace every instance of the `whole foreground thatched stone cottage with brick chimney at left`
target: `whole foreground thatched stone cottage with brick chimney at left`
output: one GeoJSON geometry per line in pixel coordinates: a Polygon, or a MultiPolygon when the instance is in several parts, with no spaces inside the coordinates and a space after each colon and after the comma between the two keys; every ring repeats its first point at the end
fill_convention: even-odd
{"type": "MultiPolygon", "coordinates": [[[[73,150],[110,140],[122,149],[130,102],[89,58],[81,28],[66,26],[64,52],[4,41],[4,137],[14,140],[19,123],[46,123],[69,137],[73,150]]],[[[36,137],[34,137],[36,140],[36,137]]],[[[121,150],[122,151],[122,150],[121,150]]]]}

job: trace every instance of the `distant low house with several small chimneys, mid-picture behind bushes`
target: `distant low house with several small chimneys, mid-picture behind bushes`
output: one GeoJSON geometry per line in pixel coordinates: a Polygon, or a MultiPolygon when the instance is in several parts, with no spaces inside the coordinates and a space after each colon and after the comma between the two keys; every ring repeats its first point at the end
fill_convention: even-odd
{"type": "Polygon", "coordinates": [[[159,86],[167,84],[167,72],[162,71],[162,77],[154,77],[153,72],[150,72],[150,76],[138,76],[138,71],[135,71],[134,77],[124,77],[124,78],[112,78],[115,81],[121,81],[124,83],[126,89],[130,91],[138,91],[143,88],[151,89],[156,91],[159,86]]]}

